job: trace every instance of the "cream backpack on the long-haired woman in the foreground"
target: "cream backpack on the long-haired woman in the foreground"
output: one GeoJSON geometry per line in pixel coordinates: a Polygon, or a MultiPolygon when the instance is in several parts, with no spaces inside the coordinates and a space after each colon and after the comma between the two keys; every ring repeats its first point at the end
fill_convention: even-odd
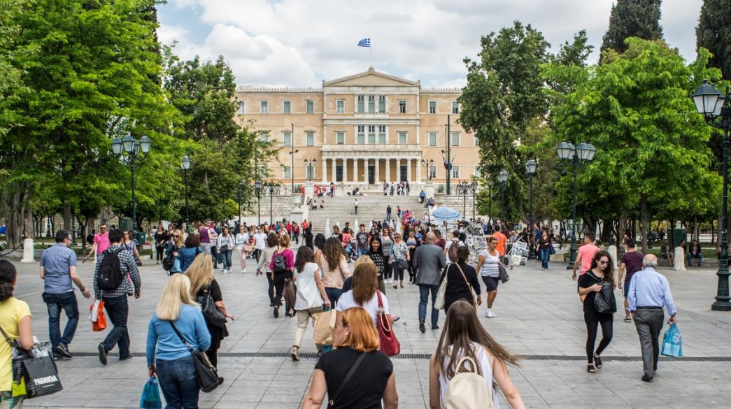
{"type": "Polygon", "coordinates": [[[477,372],[474,359],[465,356],[459,360],[454,377],[447,383],[447,393],[444,395],[444,409],[493,409],[493,397],[490,396],[485,378],[477,372]],[[466,370],[462,364],[469,362],[471,370],[466,370]]]}

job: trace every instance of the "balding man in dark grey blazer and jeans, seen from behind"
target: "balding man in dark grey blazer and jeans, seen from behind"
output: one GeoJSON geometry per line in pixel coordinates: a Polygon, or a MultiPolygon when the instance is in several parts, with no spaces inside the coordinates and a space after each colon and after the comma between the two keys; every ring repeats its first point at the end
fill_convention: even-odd
{"type": "Polygon", "coordinates": [[[433,232],[426,234],[426,240],[414,251],[412,264],[417,270],[416,284],[419,286],[419,331],[426,332],[426,302],[431,291],[431,329],[439,329],[439,310],[434,308],[436,293],[439,292],[439,281],[444,269],[444,253],[442,248],[435,245],[436,235],[433,232]]]}

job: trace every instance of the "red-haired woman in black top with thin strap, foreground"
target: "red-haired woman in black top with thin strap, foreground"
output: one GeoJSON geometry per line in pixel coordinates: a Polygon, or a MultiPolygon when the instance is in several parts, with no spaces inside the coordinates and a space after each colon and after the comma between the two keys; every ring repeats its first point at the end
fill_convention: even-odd
{"type": "MultiPolygon", "coordinates": [[[[368,266],[369,264],[363,264],[368,266]]],[[[393,363],[378,350],[379,337],[368,311],[352,307],[338,314],[336,349],[317,361],[303,409],[319,409],[325,393],[335,408],[398,408],[393,363]],[[350,378],[346,374],[353,368],[350,378]],[[368,382],[357,380],[367,379],[368,382]]]]}

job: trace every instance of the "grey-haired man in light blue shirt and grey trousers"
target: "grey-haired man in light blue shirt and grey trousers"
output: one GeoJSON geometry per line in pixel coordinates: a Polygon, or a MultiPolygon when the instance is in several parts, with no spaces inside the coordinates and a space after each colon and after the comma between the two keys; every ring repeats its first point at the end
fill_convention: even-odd
{"type": "Polygon", "coordinates": [[[660,355],[659,336],[662,330],[664,313],[662,307],[667,308],[670,318],[667,324],[675,324],[675,303],[673,294],[670,294],[670,284],[667,278],[655,271],[657,257],[648,254],[643,259],[644,270],[635,272],[629,281],[627,302],[632,319],[635,321],[637,335],[640,335],[642,360],[645,373],[642,380],[652,381],[657,370],[657,358],[660,355]]]}

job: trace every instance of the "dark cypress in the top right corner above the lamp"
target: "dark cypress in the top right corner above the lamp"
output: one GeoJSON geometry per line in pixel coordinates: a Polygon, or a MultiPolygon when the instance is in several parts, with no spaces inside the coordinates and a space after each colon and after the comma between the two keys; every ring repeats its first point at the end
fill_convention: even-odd
{"type": "Polygon", "coordinates": [[[731,80],[731,0],[704,0],[695,36],[696,49],[704,47],[713,54],[708,65],[731,80]]]}

